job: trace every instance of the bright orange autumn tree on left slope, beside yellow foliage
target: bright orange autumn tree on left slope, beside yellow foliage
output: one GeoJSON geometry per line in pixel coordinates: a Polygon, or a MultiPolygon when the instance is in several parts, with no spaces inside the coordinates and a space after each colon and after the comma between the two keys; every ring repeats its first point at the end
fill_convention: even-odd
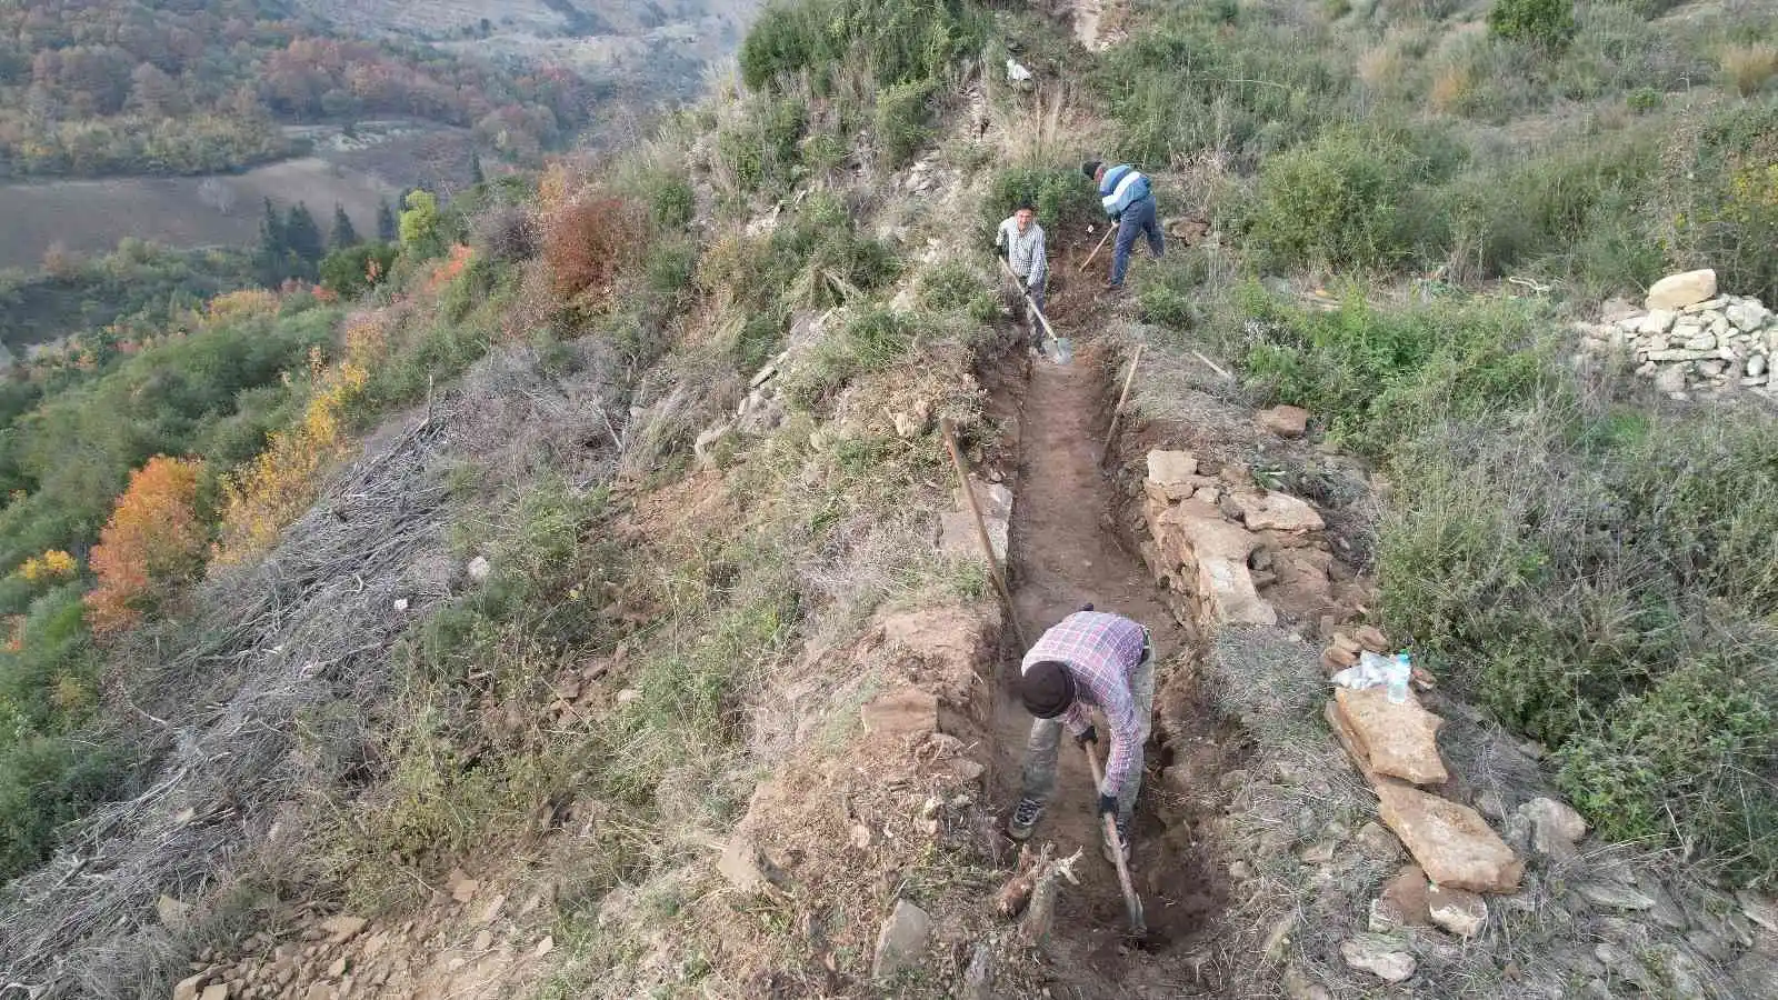
{"type": "Polygon", "coordinates": [[[87,594],[92,632],[116,633],[142,617],[144,605],[204,564],[204,525],[197,520],[197,459],[155,456],[130,473],[89,564],[98,585],[87,594]]]}

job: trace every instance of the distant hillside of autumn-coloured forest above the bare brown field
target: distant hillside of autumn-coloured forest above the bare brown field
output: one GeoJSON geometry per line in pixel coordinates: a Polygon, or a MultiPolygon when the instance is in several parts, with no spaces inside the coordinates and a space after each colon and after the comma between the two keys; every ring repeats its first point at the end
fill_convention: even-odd
{"type": "Polygon", "coordinates": [[[0,180],[228,171],[288,155],[283,123],[375,116],[528,160],[589,112],[565,69],[336,37],[268,0],[0,5],[0,180]]]}

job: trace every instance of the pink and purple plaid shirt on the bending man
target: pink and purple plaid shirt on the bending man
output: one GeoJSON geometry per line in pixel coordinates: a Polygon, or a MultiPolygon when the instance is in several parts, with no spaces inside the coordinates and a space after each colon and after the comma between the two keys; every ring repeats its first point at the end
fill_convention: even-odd
{"type": "Polygon", "coordinates": [[[1063,617],[1031,646],[1019,664],[1019,673],[1038,660],[1067,664],[1079,685],[1079,696],[1061,715],[1070,733],[1079,737],[1092,724],[1088,706],[1106,715],[1111,730],[1111,758],[1106,760],[1106,783],[1101,795],[1117,795],[1141,760],[1141,721],[1136,719],[1136,699],[1129,692],[1129,678],[1141,665],[1149,646],[1149,630],[1120,616],[1099,610],[1079,610],[1063,617]]]}

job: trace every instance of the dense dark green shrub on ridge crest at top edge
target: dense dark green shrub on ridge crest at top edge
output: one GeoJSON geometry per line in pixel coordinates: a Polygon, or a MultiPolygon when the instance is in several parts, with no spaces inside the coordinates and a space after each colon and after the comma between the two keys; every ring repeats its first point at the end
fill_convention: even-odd
{"type": "Polygon", "coordinates": [[[985,25],[969,0],[773,2],[741,41],[741,82],[757,91],[809,73],[827,94],[848,64],[880,87],[935,82],[981,48],[985,25]]]}

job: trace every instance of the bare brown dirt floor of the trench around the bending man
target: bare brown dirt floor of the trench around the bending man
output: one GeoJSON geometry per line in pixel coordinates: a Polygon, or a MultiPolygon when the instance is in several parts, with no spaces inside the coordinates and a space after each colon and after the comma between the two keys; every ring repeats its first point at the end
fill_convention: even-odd
{"type": "MultiPolygon", "coordinates": [[[[1024,386],[1008,386],[1017,399],[1001,407],[1019,413],[1019,491],[1012,518],[1012,589],[1028,641],[1063,616],[1092,601],[1141,621],[1154,632],[1157,687],[1172,671],[1186,669],[1193,637],[1161,605],[1140,559],[1115,534],[1113,484],[1099,472],[1099,445],[1109,415],[1104,409],[1101,351],[1086,345],[1076,361],[1058,367],[1031,363],[1024,386]]],[[[1022,653],[1022,649],[1019,651],[1022,653]]],[[[999,794],[1017,801],[1019,760],[1031,717],[1013,683],[1017,657],[1001,664],[996,685],[994,728],[999,744],[999,794]]],[[[1209,719],[1186,721],[1188,730],[1214,735],[1209,719]]],[[[1095,792],[1086,762],[1072,742],[1063,744],[1056,795],[1033,836],[1053,840],[1058,854],[1083,845],[1083,886],[1063,891],[1051,956],[1056,959],[1058,996],[1179,996],[1205,991],[1200,982],[1204,936],[1218,909],[1207,891],[1209,872],[1193,852],[1189,827],[1168,827],[1154,810],[1161,790],[1163,751],[1145,751],[1145,781],[1138,804],[1133,877],[1154,931],[1150,950],[1120,947],[1124,904],[1117,874],[1099,854],[1093,817],[1095,792]]]]}

